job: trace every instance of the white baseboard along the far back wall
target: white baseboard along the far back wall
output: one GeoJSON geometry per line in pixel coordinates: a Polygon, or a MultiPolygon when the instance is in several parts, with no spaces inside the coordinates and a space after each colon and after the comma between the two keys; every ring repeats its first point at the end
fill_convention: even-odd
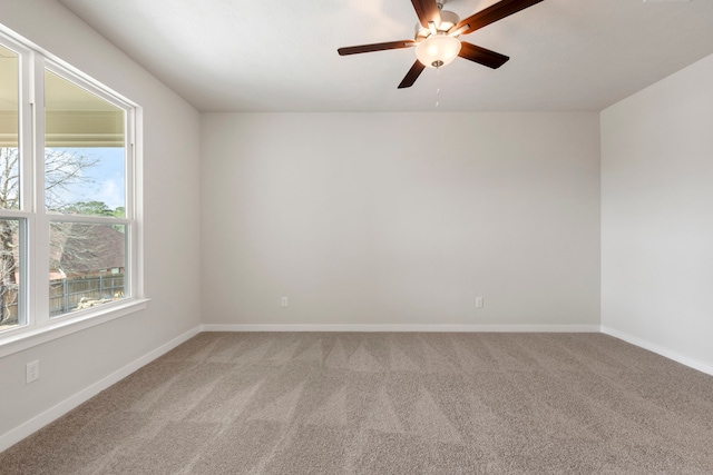
{"type": "Polygon", "coordinates": [[[598,325],[202,325],[202,331],[599,333],[598,325]]]}

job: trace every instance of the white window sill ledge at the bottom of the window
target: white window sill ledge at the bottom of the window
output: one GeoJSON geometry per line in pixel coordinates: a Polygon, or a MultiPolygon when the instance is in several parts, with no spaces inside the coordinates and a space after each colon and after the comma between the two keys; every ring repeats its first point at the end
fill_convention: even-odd
{"type": "Polygon", "coordinates": [[[92,311],[59,318],[39,328],[8,330],[7,335],[0,336],[0,358],[140,311],[146,308],[148,301],[148,298],[140,298],[120,304],[107,304],[92,311]]]}

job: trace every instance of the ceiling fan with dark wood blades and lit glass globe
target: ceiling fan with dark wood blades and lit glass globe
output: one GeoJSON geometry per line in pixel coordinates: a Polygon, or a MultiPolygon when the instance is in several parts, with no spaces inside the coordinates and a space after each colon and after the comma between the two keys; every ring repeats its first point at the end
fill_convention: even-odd
{"type": "Polygon", "coordinates": [[[543,0],[500,0],[499,2],[461,20],[452,11],[441,10],[446,0],[411,0],[419,23],[413,40],[389,41],[340,48],[340,56],[416,47],[417,60],[406,75],[399,89],[410,88],[423,69],[440,68],[457,57],[488,68],[501,67],[509,57],[458,39],[543,0]]]}

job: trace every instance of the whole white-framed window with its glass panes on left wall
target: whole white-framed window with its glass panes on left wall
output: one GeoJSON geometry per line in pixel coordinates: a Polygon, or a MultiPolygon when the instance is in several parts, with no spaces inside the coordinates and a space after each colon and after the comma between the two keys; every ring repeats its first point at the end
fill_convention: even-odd
{"type": "Polygon", "coordinates": [[[140,300],[135,113],[0,33],[0,344],[140,300]]]}

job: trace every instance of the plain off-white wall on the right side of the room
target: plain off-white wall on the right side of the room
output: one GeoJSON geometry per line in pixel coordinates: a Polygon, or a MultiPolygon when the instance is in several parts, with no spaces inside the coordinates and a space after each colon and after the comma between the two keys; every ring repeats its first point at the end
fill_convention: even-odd
{"type": "Polygon", "coordinates": [[[713,56],[602,112],[602,324],[713,374],[713,56]]]}

